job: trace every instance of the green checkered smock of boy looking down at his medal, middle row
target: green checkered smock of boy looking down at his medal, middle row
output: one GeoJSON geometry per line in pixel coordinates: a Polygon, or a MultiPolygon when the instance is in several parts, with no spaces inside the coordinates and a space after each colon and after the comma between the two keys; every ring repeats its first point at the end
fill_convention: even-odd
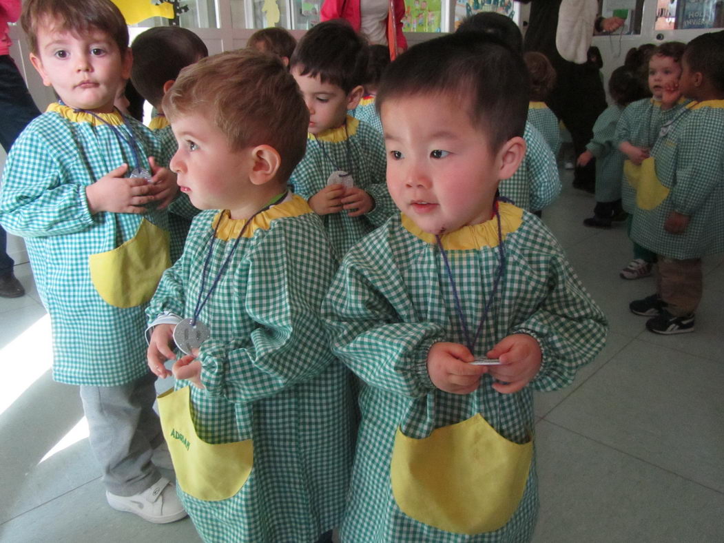
{"type": "Polygon", "coordinates": [[[374,208],[363,216],[350,217],[347,211],[321,216],[339,260],[364,235],[397,211],[387,192],[387,159],[382,135],[366,122],[347,117],[345,125],[327,130],[316,138],[308,135],[307,151],[292,172],[290,185],[308,200],[327,186],[337,170],[352,174],[355,187],[374,198],[374,208]]]}

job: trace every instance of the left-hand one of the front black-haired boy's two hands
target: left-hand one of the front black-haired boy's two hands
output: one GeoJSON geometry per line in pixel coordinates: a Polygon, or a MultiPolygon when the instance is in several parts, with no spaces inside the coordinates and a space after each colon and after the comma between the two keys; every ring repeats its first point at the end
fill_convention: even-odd
{"type": "Polygon", "coordinates": [[[471,366],[473,355],[460,343],[434,343],[427,353],[427,373],[435,387],[452,394],[470,394],[488,366],[471,366]]]}

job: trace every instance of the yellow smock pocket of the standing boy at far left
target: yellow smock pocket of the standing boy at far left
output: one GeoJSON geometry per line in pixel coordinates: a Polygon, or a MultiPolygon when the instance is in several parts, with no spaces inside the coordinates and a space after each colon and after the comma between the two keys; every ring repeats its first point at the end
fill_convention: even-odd
{"type": "Polygon", "coordinates": [[[151,300],[161,274],[171,266],[169,232],[143,219],[135,236],[111,251],[90,255],[88,266],[93,286],[106,303],[140,306],[151,300]]]}

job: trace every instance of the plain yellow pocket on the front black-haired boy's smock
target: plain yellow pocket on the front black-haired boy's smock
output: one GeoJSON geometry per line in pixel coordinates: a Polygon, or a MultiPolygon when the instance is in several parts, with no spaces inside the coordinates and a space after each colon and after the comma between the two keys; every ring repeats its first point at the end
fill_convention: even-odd
{"type": "Polygon", "coordinates": [[[477,414],[424,439],[398,429],[392,452],[392,494],[416,521],[455,534],[505,526],[518,509],[533,442],[513,443],[477,414]]]}

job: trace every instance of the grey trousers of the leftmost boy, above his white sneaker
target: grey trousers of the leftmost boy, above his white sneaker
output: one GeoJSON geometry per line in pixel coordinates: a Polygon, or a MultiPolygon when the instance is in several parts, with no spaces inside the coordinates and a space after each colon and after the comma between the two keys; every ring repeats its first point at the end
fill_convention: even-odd
{"type": "Polygon", "coordinates": [[[155,382],[156,376],[149,372],[117,387],[80,387],[90,447],[111,494],[133,496],[161,479],[151,463],[153,448],[164,440],[159,416],[153,411],[155,382]]]}

